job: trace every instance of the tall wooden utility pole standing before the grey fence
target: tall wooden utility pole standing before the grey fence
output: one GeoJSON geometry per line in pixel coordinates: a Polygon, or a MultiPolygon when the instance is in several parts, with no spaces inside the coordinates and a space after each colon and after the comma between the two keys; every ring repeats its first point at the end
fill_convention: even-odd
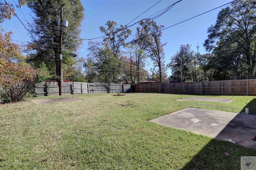
{"type": "MultiPolygon", "coordinates": [[[[63,79],[63,75],[62,75],[62,34],[63,34],[63,6],[65,4],[62,4],[62,6],[59,8],[60,10],[60,80],[59,80],[59,95],[62,95],[62,79],[63,79]]],[[[58,10],[58,11],[59,11],[58,10]]]]}

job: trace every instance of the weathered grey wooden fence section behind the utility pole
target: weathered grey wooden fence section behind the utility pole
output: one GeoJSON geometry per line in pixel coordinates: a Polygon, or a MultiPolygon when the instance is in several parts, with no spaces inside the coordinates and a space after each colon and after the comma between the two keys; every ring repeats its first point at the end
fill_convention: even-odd
{"type": "MultiPolygon", "coordinates": [[[[62,95],[129,92],[134,92],[134,86],[115,83],[62,82],[62,95]]],[[[59,95],[58,82],[46,82],[37,84],[35,87],[35,95],[59,95]]]]}

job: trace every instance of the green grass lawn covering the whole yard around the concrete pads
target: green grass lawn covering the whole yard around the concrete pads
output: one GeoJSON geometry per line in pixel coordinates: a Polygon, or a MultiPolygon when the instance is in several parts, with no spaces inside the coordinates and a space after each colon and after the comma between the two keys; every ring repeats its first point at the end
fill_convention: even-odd
{"type": "Polygon", "coordinates": [[[187,107],[238,113],[250,105],[256,113],[255,97],[210,96],[231,103],[154,93],[62,97],[82,100],[0,105],[0,169],[240,170],[240,156],[256,156],[251,148],[148,121],[187,107]]]}

